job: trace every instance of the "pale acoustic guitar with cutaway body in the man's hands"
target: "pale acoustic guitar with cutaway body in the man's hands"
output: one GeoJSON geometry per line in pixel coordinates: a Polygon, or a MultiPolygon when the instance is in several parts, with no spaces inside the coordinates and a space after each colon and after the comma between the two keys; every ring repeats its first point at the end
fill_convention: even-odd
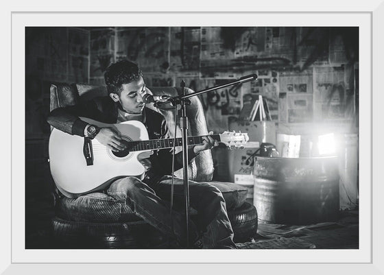
{"type": "MultiPolygon", "coordinates": [[[[149,140],[147,129],[140,121],[107,124],[81,117],[100,128],[110,127],[121,133],[127,149],[113,152],[96,139],[75,136],[53,128],[49,137],[49,166],[56,187],[69,198],[103,189],[116,178],[135,176],[143,179],[145,167],[139,160],[148,158],[153,150],[173,147],[174,139],[149,140]]],[[[211,135],[229,147],[243,147],[248,134],[223,132],[211,135]]],[[[202,136],[189,136],[188,145],[202,144],[202,136]]],[[[176,139],[176,146],[182,139],[176,139]]]]}

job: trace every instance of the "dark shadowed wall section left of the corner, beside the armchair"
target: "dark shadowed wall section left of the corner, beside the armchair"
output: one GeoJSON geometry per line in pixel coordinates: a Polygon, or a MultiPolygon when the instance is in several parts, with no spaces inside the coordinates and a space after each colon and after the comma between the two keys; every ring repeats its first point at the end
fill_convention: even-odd
{"type": "Polygon", "coordinates": [[[25,27],[25,222],[29,230],[43,226],[39,215],[47,215],[53,204],[47,162],[49,86],[89,81],[89,41],[87,29],[25,27]]]}

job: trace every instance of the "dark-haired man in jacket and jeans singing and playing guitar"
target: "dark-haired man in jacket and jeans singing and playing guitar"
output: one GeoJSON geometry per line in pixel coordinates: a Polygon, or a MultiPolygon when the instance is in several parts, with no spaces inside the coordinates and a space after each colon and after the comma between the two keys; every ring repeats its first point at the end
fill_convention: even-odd
{"type": "MultiPolygon", "coordinates": [[[[141,121],[147,129],[149,139],[169,138],[165,117],[146,108],[143,103],[143,95],[148,91],[141,70],[136,64],[128,60],[110,64],[104,78],[109,97],[96,97],[75,106],[56,108],[49,114],[48,123],[67,134],[85,136],[90,141],[95,139],[116,154],[127,150],[128,146],[119,130],[99,127],[82,119],[83,117],[101,123],[141,121]]],[[[209,150],[215,145],[217,141],[212,136],[203,136],[202,144],[189,147],[189,161],[201,151],[209,150]]],[[[169,149],[154,150],[152,155],[141,159],[140,162],[145,167],[143,177],[112,178],[108,185],[103,186],[104,191],[116,200],[123,200],[136,215],[165,235],[176,239],[182,246],[187,239],[183,214],[175,210],[169,215],[172,152],[169,149]]],[[[181,167],[180,152],[175,155],[174,169],[181,167]]],[[[86,192],[79,192],[78,195],[84,193],[86,192]]],[[[191,243],[201,238],[203,248],[236,248],[226,203],[219,189],[208,183],[190,180],[189,195],[191,207],[197,210],[197,222],[190,223],[191,243]]],[[[180,178],[173,179],[173,196],[175,206],[182,208],[184,185],[180,178]]]]}

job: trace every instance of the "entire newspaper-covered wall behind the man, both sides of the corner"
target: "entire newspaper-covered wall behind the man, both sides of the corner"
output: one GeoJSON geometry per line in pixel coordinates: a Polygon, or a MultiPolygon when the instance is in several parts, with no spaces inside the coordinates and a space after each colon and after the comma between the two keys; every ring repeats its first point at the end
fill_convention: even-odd
{"type": "Polygon", "coordinates": [[[358,28],[27,27],[25,37],[27,137],[49,134],[49,84],[104,84],[108,64],[125,58],[148,86],[183,79],[200,91],[256,73],[258,80],[200,96],[215,132],[237,119],[247,94],[263,95],[285,132],[357,125],[358,28]]]}

